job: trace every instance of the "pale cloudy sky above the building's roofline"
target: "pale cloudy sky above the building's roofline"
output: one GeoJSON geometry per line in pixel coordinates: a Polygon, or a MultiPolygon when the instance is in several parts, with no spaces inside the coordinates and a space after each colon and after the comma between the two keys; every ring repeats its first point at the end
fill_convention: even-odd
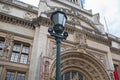
{"type": "MultiPolygon", "coordinates": [[[[39,0],[20,1],[34,6],[38,6],[39,3],[39,0]]],[[[120,0],[85,0],[84,8],[91,9],[93,14],[99,13],[105,31],[109,31],[110,34],[120,37],[120,0]]]]}

